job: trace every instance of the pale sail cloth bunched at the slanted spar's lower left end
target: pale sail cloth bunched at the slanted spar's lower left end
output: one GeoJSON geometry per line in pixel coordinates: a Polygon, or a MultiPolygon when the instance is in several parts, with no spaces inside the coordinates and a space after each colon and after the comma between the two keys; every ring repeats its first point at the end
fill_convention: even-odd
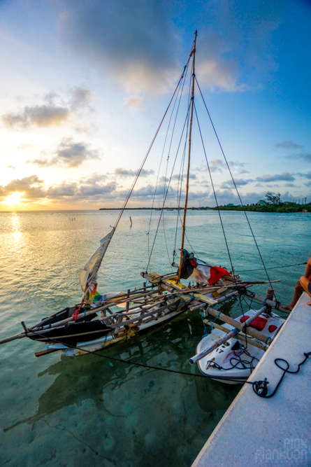
{"type": "Polygon", "coordinates": [[[95,284],[97,281],[97,272],[101,266],[101,261],[103,256],[106,253],[108,245],[110,243],[111,237],[115,233],[115,228],[111,230],[106,237],[103,237],[100,241],[100,245],[96,251],[92,254],[91,258],[87,261],[85,267],[80,269],[79,272],[79,281],[82,288],[82,291],[85,292],[87,286],[95,284]]]}

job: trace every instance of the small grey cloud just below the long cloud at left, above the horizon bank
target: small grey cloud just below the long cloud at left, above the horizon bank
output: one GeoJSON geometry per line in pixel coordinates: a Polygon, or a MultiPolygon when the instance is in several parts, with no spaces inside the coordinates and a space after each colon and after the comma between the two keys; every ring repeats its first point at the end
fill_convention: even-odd
{"type": "Polygon", "coordinates": [[[39,167],[79,167],[85,160],[99,159],[100,152],[90,149],[87,143],[75,142],[72,138],[63,138],[57,146],[55,156],[52,159],[29,160],[28,163],[39,167]]]}

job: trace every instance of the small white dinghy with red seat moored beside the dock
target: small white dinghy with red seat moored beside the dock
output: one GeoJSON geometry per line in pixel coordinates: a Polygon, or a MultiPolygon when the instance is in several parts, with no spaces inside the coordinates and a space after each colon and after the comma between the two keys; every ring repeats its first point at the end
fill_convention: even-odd
{"type": "MultiPolygon", "coordinates": [[[[256,310],[250,309],[244,316],[238,316],[236,321],[244,323],[248,319],[252,319],[252,316],[256,313],[258,313],[256,310]]],[[[266,335],[268,342],[268,337],[273,339],[284,321],[277,314],[263,312],[249,323],[249,326],[260,330],[261,333],[266,335]]],[[[226,329],[232,331],[234,327],[226,324],[226,329]]],[[[201,342],[198,343],[196,356],[202,352],[204,353],[205,349],[216,344],[222,337],[224,337],[224,330],[212,329],[212,332],[203,337],[201,342]]],[[[245,333],[238,333],[237,337],[233,335],[229,340],[212,349],[210,353],[197,361],[198,369],[203,375],[227,384],[238,384],[238,382],[243,383],[247,380],[265,351],[263,350],[263,343],[259,340],[248,335],[245,336],[245,333]],[[240,340],[237,337],[240,337],[240,340]],[[255,345],[258,347],[255,347],[255,345]]],[[[195,357],[193,358],[195,359],[195,357]]]]}

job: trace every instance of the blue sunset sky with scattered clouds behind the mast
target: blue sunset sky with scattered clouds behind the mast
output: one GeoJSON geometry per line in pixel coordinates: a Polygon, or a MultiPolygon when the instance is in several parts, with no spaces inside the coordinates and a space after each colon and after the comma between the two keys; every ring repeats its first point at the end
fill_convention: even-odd
{"type": "MultiPolygon", "coordinates": [[[[310,202],[310,24],[307,0],[2,0],[0,210],[122,206],[196,29],[196,79],[243,203],[310,202]]],[[[168,185],[177,206],[181,175],[185,189],[186,78],[129,207],[160,206],[168,185]]],[[[210,174],[219,204],[238,204],[195,91],[205,153],[195,116],[189,205],[215,206],[210,174]]]]}

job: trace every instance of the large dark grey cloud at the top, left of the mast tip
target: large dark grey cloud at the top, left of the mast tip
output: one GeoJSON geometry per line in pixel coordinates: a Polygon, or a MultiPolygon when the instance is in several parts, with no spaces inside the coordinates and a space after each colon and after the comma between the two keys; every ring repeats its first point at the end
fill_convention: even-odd
{"type": "MultiPolygon", "coordinates": [[[[124,85],[126,92],[163,92],[176,77],[175,34],[164,0],[67,0],[59,30],[68,48],[124,85]]],[[[133,103],[130,100],[129,103],[133,103]]]]}

